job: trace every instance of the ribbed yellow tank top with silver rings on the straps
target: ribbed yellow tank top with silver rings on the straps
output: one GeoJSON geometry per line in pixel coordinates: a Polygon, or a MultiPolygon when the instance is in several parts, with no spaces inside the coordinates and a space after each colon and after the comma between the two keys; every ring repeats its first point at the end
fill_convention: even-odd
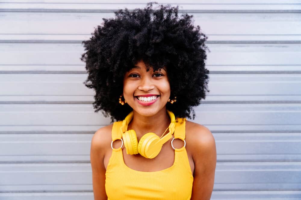
{"type": "MultiPolygon", "coordinates": [[[[185,139],[185,120],[175,125],[174,137],[185,139]]],[[[112,140],[122,137],[122,121],[114,122],[112,140]]],[[[167,145],[167,144],[166,144],[167,145]]],[[[171,145],[169,143],[169,145],[171,145]]],[[[175,161],[167,169],[142,172],[126,166],[122,148],[113,149],[105,180],[108,200],[186,200],[191,198],[193,176],[185,147],[175,149],[175,161]]]]}

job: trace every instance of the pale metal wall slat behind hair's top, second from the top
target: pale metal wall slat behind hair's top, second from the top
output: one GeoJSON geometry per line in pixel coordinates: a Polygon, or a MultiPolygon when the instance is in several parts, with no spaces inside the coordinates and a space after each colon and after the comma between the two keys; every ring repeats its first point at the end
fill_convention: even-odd
{"type": "MultiPolygon", "coordinates": [[[[14,13],[13,16],[11,16],[10,13],[4,13],[3,17],[5,19],[0,20],[0,25],[5,26],[5,29],[1,30],[1,37],[0,37],[0,42],[44,42],[44,43],[70,43],[70,42],[77,42],[80,43],[82,40],[87,40],[91,35],[89,32],[93,31],[93,27],[99,24],[99,19],[102,17],[112,17],[112,13],[107,13],[107,14],[93,14],[93,13],[86,13],[86,14],[80,14],[77,13],[75,14],[60,14],[60,13],[52,13],[52,14],[47,14],[44,13],[43,15],[41,14],[30,14],[26,15],[24,13],[14,13]],[[51,30],[50,32],[53,32],[53,34],[48,34],[44,32],[41,34],[41,29],[35,28],[35,25],[45,26],[45,21],[47,21],[47,26],[49,26],[51,23],[51,26],[57,26],[59,25],[56,23],[57,15],[60,16],[61,19],[65,19],[66,23],[68,24],[62,25],[62,27],[57,27],[56,31],[61,31],[61,30],[66,30],[66,27],[68,29],[64,32],[64,34],[58,34],[58,32],[53,32],[51,30]],[[101,15],[101,16],[99,16],[101,15]],[[41,20],[41,18],[44,18],[44,20],[41,20]],[[90,19],[89,19],[90,18],[90,19]],[[8,24],[8,22],[15,24],[15,23],[20,23],[23,22],[24,19],[27,19],[26,26],[32,24],[32,23],[39,23],[39,24],[33,24],[30,25],[30,29],[28,27],[24,29],[12,29],[13,27],[8,24]],[[82,26],[85,26],[86,24],[91,24],[91,22],[94,22],[93,25],[86,29],[79,29],[78,26],[70,26],[70,22],[76,21],[76,23],[82,23],[82,26]],[[33,33],[32,31],[36,30],[36,33],[33,33]],[[26,32],[24,32],[24,30],[26,32]],[[29,34],[28,31],[31,31],[29,34]],[[13,32],[18,32],[18,34],[12,34],[13,32]],[[23,32],[20,32],[23,31],[23,32]],[[84,32],[86,31],[86,34],[84,32]],[[81,33],[81,34],[79,34],[81,33]]],[[[210,14],[210,13],[203,13],[203,14],[194,14],[196,18],[195,24],[198,23],[204,23],[204,22],[214,22],[214,23],[221,23],[221,22],[244,22],[244,24],[248,22],[254,22],[258,21],[260,23],[266,22],[268,26],[271,26],[269,22],[279,22],[279,23],[284,23],[283,25],[286,24],[286,22],[298,22],[300,21],[300,15],[297,13],[281,13],[281,14],[273,14],[273,13],[256,13],[256,14],[242,14],[242,13],[220,13],[219,15],[216,14],[210,14]]],[[[60,24],[64,23],[62,22],[60,24]]],[[[19,24],[19,27],[22,26],[23,23],[19,24]]],[[[277,24],[279,25],[279,24],[277,24]]],[[[206,32],[208,36],[208,42],[225,42],[225,41],[237,41],[237,42],[247,42],[247,41],[252,41],[252,42],[278,42],[278,43],[284,43],[284,42],[298,42],[301,40],[301,35],[296,33],[296,26],[293,29],[294,34],[292,35],[287,34],[287,35],[281,35],[280,32],[278,31],[277,34],[274,32],[271,34],[267,34],[267,30],[270,30],[269,28],[267,29],[265,27],[265,30],[262,32],[262,34],[255,34],[253,33],[253,30],[250,30],[248,33],[245,34],[238,34],[239,31],[242,31],[241,29],[235,29],[235,34],[233,35],[227,35],[223,34],[223,31],[227,31],[227,28],[221,28],[220,30],[216,31],[213,30],[213,28],[218,28],[220,26],[210,26],[208,27],[203,27],[201,26],[203,31],[206,32]]],[[[47,27],[45,27],[47,28],[47,27]]],[[[42,30],[45,30],[43,28],[42,30]]],[[[55,27],[54,27],[55,28],[55,27]]],[[[235,28],[235,27],[232,27],[235,28]]],[[[248,27],[245,27],[248,28],[248,27]]],[[[55,30],[55,29],[54,29],[55,30]]]]}

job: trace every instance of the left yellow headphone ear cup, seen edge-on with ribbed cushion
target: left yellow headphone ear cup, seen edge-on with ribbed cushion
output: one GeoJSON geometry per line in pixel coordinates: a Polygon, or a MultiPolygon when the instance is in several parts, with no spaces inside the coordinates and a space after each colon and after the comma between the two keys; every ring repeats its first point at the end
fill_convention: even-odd
{"type": "Polygon", "coordinates": [[[126,154],[138,154],[138,140],[135,130],[127,130],[122,134],[126,154]]]}

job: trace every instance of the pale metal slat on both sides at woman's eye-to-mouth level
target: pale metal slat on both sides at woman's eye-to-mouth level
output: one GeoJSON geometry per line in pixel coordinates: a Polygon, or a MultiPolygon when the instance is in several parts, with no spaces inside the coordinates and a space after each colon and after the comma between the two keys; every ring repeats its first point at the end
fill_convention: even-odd
{"type": "MultiPolygon", "coordinates": [[[[295,87],[301,84],[301,74],[211,74],[209,76],[208,96],[254,95],[252,99],[240,97],[240,100],[252,101],[256,100],[256,95],[262,95],[265,98],[261,97],[259,100],[269,101],[273,99],[273,97],[270,99],[269,95],[283,95],[282,100],[289,102],[293,100],[290,99],[290,96],[301,95],[301,88],[295,87]]],[[[0,74],[1,83],[6,85],[6,87],[0,88],[0,93],[7,96],[6,100],[9,100],[9,95],[92,96],[95,91],[86,88],[83,84],[86,77],[86,74],[0,74]]],[[[29,97],[27,99],[30,100],[29,97]]],[[[2,97],[0,100],[5,99],[2,97]]],[[[18,99],[12,96],[12,100],[18,99]]],[[[22,99],[20,100],[22,101],[22,99]]],[[[41,100],[51,102],[54,99],[45,97],[41,100]]],[[[65,97],[66,100],[76,101],[73,97],[69,97],[69,99],[65,97]]],[[[90,98],[90,100],[93,99],[90,98]]],[[[223,100],[223,98],[219,97],[219,100],[223,100]]]]}

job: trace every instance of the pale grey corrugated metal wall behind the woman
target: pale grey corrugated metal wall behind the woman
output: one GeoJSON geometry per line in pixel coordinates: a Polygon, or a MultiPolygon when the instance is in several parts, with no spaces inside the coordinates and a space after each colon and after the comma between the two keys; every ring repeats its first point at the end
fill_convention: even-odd
{"type": "MultiPolygon", "coordinates": [[[[110,119],[82,84],[81,41],[148,1],[0,2],[0,199],[92,200],[90,142],[110,119]]],[[[209,37],[210,93],[194,121],[216,139],[211,199],[301,199],[301,2],[159,3],[209,37]]]]}

